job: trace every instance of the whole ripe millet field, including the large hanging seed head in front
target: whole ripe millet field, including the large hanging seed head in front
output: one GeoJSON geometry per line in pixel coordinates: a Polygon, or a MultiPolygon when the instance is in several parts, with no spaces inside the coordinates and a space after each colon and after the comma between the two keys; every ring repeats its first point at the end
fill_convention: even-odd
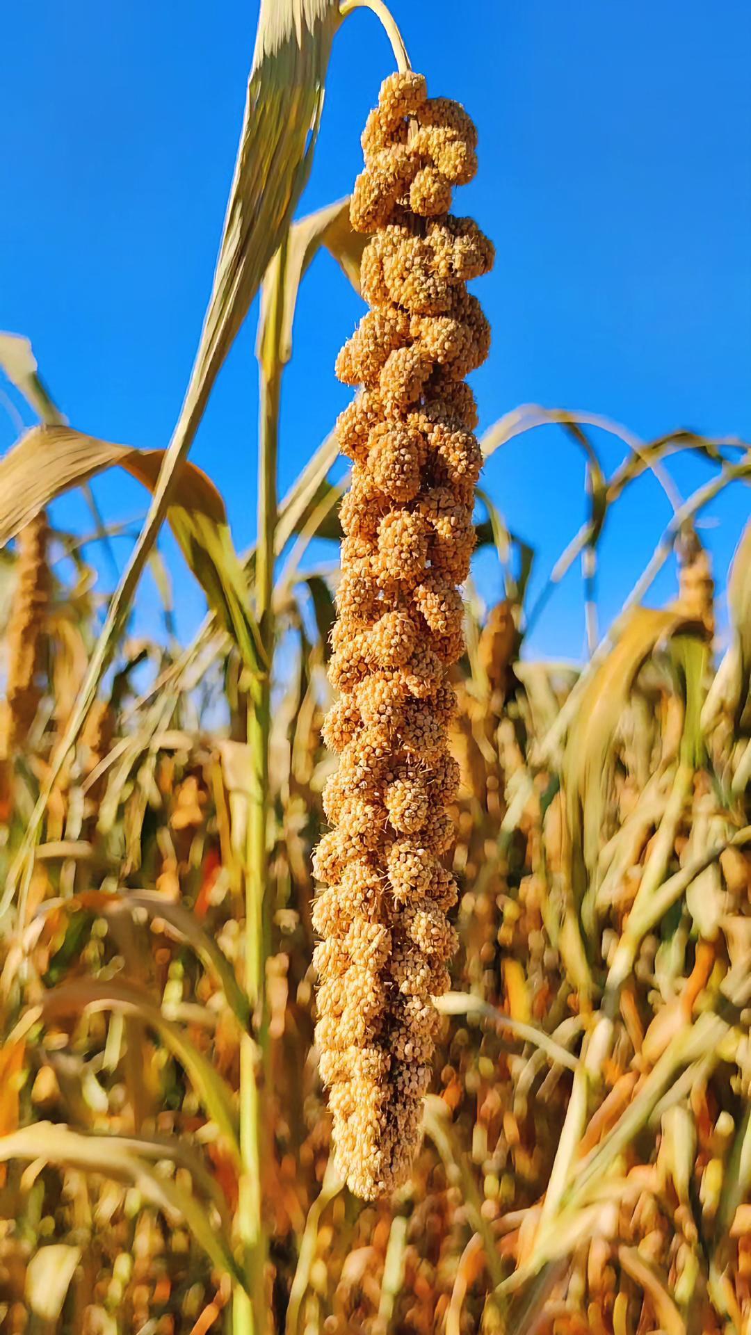
{"type": "Polygon", "coordinates": [[[700,518],[751,454],[536,406],[474,435],[493,247],[449,212],[474,129],[378,0],[398,72],[363,172],[299,215],[355,3],[262,5],[167,450],[75,430],[0,335],[39,419],[0,461],[0,1331],[746,1335],[751,525],[714,571],[700,518]],[[357,394],[279,497],[321,247],[369,307],[337,363],[357,394]],[[258,291],[238,554],[188,451],[258,291]],[[587,519],[532,598],[537,535],[478,474],[540,429],[583,465],[587,519]],[[687,499],[683,453],[708,477],[687,499]],[[103,594],[88,485],[112,467],[151,506],[103,594]],[[601,535],[647,486],[672,519],[599,627],[601,535]],[[53,521],[73,487],[86,542],[53,521]],[[208,606],[183,646],[128,629],[163,522],[208,606]],[[497,559],[493,605],[473,551],[497,559]],[[525,637],[576,565],[588,658],[537,661],[525,637]]]}

